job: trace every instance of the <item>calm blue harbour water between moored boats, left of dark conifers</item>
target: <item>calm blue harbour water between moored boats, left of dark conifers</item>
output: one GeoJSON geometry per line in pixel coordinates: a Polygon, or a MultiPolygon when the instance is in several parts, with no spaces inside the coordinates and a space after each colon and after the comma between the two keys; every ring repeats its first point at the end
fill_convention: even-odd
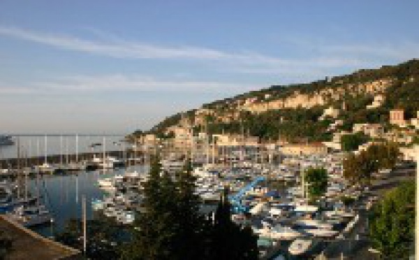
{"type": "MultiPolygon", "coordinates": [[[[129,171],[145,171],[145,166],[133,166],[129,171]]],[[[44,195],[45,205],[54,213],[54,224],[38,226],[33,230],[43,236],[51,236],[54,231],[60,231],[68,219],[81,218],[82,196],[86,197],[87,219],[92,219],[93,210],[91,200],[103,198],[105,192],[98,188],[98,178],[106,178],[116,174],[123,174],[125,169],[108,171],[103,174],[99,171],[80,172],[78,175],[45,176],[41,182],[41,192],[44,195]]],[[[34,190],[36,181],[31,181],[34,190]]]]}

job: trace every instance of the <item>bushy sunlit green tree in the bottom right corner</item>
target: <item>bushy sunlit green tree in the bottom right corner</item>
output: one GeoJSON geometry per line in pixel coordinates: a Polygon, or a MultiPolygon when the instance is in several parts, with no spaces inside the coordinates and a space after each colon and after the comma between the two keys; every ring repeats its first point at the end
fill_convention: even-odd
{"type": "Polygon", "coordinates": [[[387,192],[370,215],[373,247],[384,259],[407,259],[415,237],[415,182],[406,182],[387,192]]]}

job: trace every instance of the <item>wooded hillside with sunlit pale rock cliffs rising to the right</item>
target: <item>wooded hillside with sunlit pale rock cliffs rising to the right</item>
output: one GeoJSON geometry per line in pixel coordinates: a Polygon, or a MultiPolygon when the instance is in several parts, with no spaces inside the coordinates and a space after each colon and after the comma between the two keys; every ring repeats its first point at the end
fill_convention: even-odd
{"type": "MultiPolygon", "coordinates": [[[[329,140],[328,127],[334,120],[318,120],[325,108],[337,108],[334,120],[343,120],[341,129],[351,129],[354,123],[388,123],[389,110],[403,108],[407,119],[419,110],[419,60],[412,59],[396,66],[362,69],[298,85],[272,85],[204,104],[189,110],[183,117],[197,130],[207,125],[211,133],[239,133],[246,129],[265,140],[287,138],[290,141],[329,140]],[[371,105],[374,97],[383,99],[381,106],[371,105]],[[241,127],[242,126],[242,127],[241,127]]],[[[156,124],[149,132],[160,136],[170,126],[179,123],[177,113],[156,124]]]]}

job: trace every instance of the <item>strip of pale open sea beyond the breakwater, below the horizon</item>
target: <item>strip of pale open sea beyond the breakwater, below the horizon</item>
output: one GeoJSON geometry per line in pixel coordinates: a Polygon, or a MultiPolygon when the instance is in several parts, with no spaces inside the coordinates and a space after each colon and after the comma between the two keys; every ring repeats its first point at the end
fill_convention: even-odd
{"type": "MultiPolygon", "coordinates": [[[[121,140],[124,136],[106,136],[106,150],[121,151],[124,148],[124,142],[121,140]]],[[[0,159],[17,157],[17,137],[14,137],[15,145],[0,146],[0,159]]],[[[75,154],[76,136],[47,136],[47,145],[45,146],[45,136],[20,136],[21,151],[28,157],[44,156],[47,154],[75,154]],[[46,148],[46,149],[45,149],[46,148]]],[[[90,147],[92,143],[103,143],[102,136],[78,136],[78,152],[101,152],[102,146],[90,147]]]]}

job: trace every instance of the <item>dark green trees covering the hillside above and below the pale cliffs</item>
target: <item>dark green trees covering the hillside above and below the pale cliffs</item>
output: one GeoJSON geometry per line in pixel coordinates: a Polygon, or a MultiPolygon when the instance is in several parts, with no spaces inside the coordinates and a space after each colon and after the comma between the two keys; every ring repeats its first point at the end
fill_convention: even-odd
{"type": "MultiPolygon", "coordinates": [[[[256,102],[283,99],[291,96],[295,91],[301,94],[314,94],[322,89],[333,89],[337,87],[348,87],[365,82],[372,82],[380,79],[391,79],[392,85],[385,92],[383,106],[374,109],[365,107],[372,103],[374,96],[371,94],[359,93],[356,95],[346,92],[341,100],[330,99],[325,106],[315,106],[304,109],[270,110],[260,114],[240,113],[240,117],[230,122],[216,122],[213,117],[208,117],[208,129],[212,133],[241,133],[242,127],[246,133],[252,136],[259,136],[262,140],[277,139],[281,134],[283,138],[291,142],[301,141],[308,138],[309,141],[330,140],[328,124],[331,121],[318,122],[318,117],[323,109],[328,106],[341,108],[342,101],[345,102],[346,110],[341,110],[340,120],[344,121],[341,130],[351,130],[355,123],[381,123],[388,124],[388,114],[391,109],[403,108],[406,119],[416,117],[419,110],[419,60],[412,59],[409,62],[397,66],[382,66],[378,69],[360,70],[349,75],[341,75],[334,78],[326,78],[306,84],[298,85],[273,85],[267,89],[248,92],[233,98],[223,99],[207,103],[203,108],[210,108],[219,115],[225,115],[237,109],[237,104],[247,98],[254,98],[256,102]],[[282,122],[280,121],[283,118],[282,122]],[[242,122],[242,123],[241,123],[242,122]]],[[[194,112],[189,110],[183,113],[193,122],[194,112]]],[[[167,117],[156,124],[150,132],[159,133],[179,122],[181,113],[167,117]]]]}

